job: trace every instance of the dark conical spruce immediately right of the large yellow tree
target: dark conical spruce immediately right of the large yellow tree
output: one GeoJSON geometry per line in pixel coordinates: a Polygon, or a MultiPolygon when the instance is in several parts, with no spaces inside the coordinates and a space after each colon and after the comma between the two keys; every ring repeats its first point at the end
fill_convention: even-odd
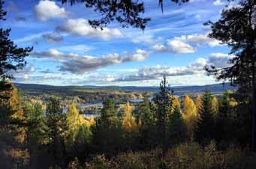
{"type": "Polygon", "coordinates": [[[209,91],[203,94],[199,114],[195,138],[198,142],[204,144],[215,136],[214,109],[212,108],[212,94],[209,91]]]}

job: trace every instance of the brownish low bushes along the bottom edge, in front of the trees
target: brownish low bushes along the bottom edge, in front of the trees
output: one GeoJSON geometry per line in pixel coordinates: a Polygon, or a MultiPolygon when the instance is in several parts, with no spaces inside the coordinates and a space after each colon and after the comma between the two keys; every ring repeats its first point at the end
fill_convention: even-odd
{"type": "MultiPolygon", "coordinates": [[[[231,146],[227,150],[218,150],[215,142],[206,147],[197,143],[179,144],[163,153],[162,150],[120,153],[111,159],[105,156],[95,156],[87,162],[86,169],[246,169],[250,166],[248,157],[237,147],[231,146]]],[[[78,162],[72,162],[72,169],[78,162]]]]}

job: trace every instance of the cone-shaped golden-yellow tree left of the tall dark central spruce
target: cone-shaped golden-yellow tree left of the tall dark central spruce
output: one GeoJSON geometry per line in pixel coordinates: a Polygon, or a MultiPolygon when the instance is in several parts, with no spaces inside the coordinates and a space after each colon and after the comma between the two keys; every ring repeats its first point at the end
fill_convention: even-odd
{"type": "Polygon", "coordinates": [[[135,117],[131,114],[131,105],[129,102],[125,104],[125,112],[122,117],[122,127],[125,131],[131,131],[137,129],[137,123],[135,117]]]}

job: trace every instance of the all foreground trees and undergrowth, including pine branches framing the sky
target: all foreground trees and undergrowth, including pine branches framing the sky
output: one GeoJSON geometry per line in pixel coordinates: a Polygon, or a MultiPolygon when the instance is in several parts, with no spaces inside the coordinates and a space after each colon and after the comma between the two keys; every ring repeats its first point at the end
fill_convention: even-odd
{"type": "MultiPolygon", "coordinates": [[[[158,2],[164,11],[165,1],[158,2]]],[[[140,16],[144,8],[138,1],[60,3],[85,3],[101,13],[101,19],[89,21],[94,28],[116,21],[144,30],[150,21],[140,16]]],[[[4,4],[0,0],[0,22],[6,22],[8,14],[4,4]]],[[[152,98],[143,93],[141,102],[127,99],[120,108],[116,99],[104,96],[97,116],[90,117],[80,112],[77,102],[68,102],[63,111],[62,97],[39,102],[17,89],[14,72],[26,67],[34,49],[19,48],[11,40],[11,29],[1,25],[0,168],[256,168],[255,13],[256,1],[240,0],[238,7],[222,10],[217,21],[205,23],[209,37],[227,44],[235,57],[230,67],[203,69],[236,90],[176,96],[168,75],[161,74],[152,98]]]]}

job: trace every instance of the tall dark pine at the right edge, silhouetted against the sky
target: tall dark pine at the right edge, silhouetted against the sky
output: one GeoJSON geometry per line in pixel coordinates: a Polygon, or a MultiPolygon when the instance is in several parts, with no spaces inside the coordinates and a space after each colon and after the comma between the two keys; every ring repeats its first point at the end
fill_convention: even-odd
{"type": "Polygon", "coordinates": [[[256,151],[256,1],[241,0],[236,7],[222,10],[221,19],[217,22],[207,22],[212,31],[209,37],[220,40],[231,47],[230,54],[236,57],[230,59],[230,67],[218,68],[214,65],[206,67],[209,74],[218,80],[230,80],[238,84],[244,99],[251,98],[252,111],[252,150],[256,151]]]}

